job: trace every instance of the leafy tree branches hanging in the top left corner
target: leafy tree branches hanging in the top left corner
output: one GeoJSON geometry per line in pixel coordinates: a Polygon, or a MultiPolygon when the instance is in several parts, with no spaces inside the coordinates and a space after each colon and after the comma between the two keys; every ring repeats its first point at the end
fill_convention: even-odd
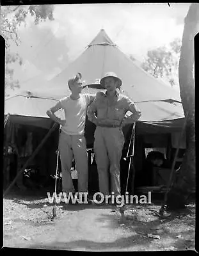
{"type": "MultiPolygon", "coordinates": [[[[35,24],[53,18],[54,6],[52,5],[31,5],[31,6],[2,6],[1,9],[1,35],[4,37],[6,45],[5,56],[5,87],[12,89],[20,87],[19,81],[13,79],[12,63],[18,62],[22,65],[22,58],[19,54],[11,51],[10,44],[20,44],[20,38],[17,35],[17,28],[24,24],[26,26],[26,18],[28,15],[34,17],[35,24]]],[[[6,95],[7,96],[7,95],[6,95]]]]}

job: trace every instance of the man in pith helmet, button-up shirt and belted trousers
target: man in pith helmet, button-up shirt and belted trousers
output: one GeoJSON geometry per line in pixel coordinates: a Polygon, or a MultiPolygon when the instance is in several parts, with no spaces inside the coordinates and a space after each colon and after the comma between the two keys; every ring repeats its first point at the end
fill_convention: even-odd
{"type": "Polygon", "coordinates": [[[121,79],[113,72],[107,72],[100,80],[106,93],[98,92],[88,107],[88,120],[95,130],[94,152],[99,175],[99,189],[104,196],[114,192],[120,195],[120,159],[124,144],[122,126],[136,122],[141,112],[128,97],[116,91],[122,86],[121,79]],[[132,115],[125,118],[125,113],[132,115]],[[97,113],[97,115],[95,115],[97,113]],[[109,168],[109,171],[108,171],[109,168]],[[109,189],[109,173],[111,189],[109,189]]]}

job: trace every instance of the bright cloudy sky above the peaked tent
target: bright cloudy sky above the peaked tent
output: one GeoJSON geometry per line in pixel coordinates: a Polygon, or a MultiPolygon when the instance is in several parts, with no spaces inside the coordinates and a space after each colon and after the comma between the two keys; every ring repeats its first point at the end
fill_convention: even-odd
{"type": "MultiPolygon", "coordinates": [[[[35,25],[32,17],[17,30],[20,44],[12,52],[23,59],[13,65],[20,90],[48,81],[85,49],[100,29],[125,54],[143,61],[147,51],[182,38],[190,3],[56,4],[54,20],[35,25]]],[[[26,6],[25,6],[26,7],[26,6]]],[[[3,11],[2,11],[3,12],[3,11]]],[[[13,94],[17,90],[9,91],[13,94]]]]}

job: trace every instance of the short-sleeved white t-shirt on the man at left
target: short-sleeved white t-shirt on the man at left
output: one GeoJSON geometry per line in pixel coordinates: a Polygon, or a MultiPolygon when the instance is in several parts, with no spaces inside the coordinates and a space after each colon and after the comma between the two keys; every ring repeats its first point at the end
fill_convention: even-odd
{"type": "Polygon", "coordinates": [[[87,106],[90,104],[91,97],[89,94],[80,94],[79,99],[73,100],[67,96],[60,100],[61,106],[65,111],[65,125],[61,131],[69,135],[84,134],[86,122],[87,106]]]}

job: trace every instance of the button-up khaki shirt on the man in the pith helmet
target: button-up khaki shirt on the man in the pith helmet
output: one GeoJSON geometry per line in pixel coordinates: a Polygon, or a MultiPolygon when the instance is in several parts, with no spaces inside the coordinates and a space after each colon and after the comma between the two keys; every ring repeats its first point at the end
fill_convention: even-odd
{"type": "Polygon", "coordinates": [[[115,97],[109,99],[106,93],[99,92],[88,107],[87,114],[88,120],[91,122],[93,122],[94,115],[97,113],[97,122],[99,124],[120,125],[127,111],[131,111],[133,115],[140,116],[139,109],[125,95],[116,92],[115,97]]]}

